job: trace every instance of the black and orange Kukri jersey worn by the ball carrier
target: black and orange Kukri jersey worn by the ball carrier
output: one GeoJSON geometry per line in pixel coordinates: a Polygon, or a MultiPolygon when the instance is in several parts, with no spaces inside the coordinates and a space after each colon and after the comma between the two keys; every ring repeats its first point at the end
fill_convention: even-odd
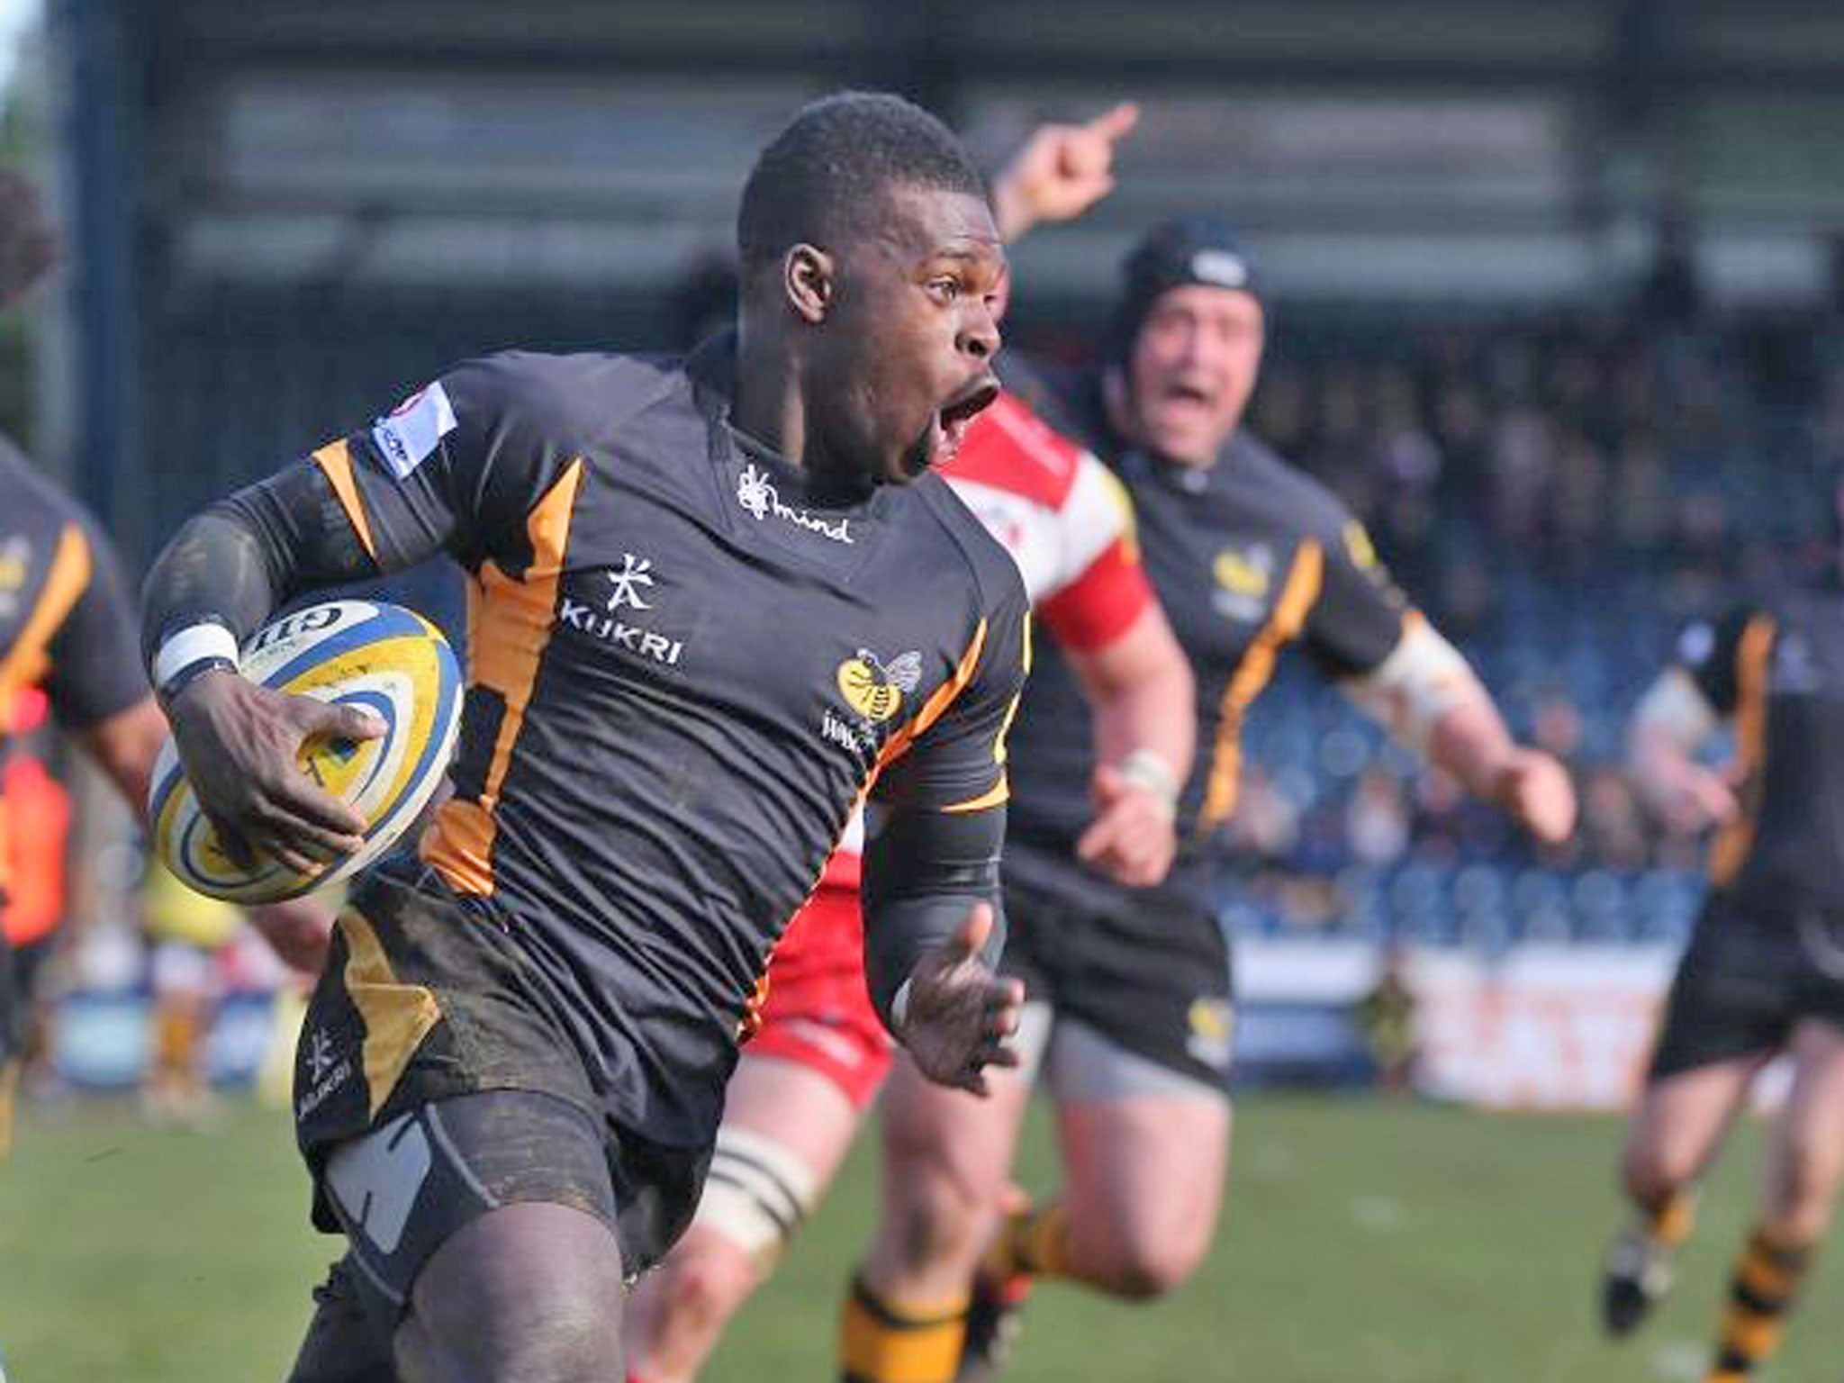
{"type": "Polygon", "coordinates": [[[935,476],[830,502],[727,424],[732,356],[503,354],[321,448],[382,570],[472,575],[424,861],[522,939],[618,1119],[701,1141],[854,804],[1007,797],[1016,568],[935,476]]]}

